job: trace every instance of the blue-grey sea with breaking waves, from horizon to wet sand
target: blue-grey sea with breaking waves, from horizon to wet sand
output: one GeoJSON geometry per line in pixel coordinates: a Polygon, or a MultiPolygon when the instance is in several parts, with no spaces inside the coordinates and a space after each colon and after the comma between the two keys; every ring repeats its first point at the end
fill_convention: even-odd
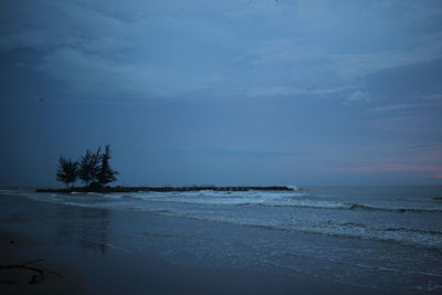
{"type": "MultiPolygon", "coordinates": [[[[186,224],[194,225],[186,230],[180,225],[165,228],[159,222],[146,223],[144,229],[134,225],[137,230],[128,226],[125,239],[113,241],[113,245],[133,251],[140,246],[136,242],[140,232],[144,236],[162,236],[161,253],[177,263],[188,263],[182,261],[186,256],[182,253],[188,251],[193,255],[191,261],[200,264],[262,265],[382,291],[442,292],[442,187],[295,187],[295,191],[107,194],[2,190],[0,193],[77,208],[148,212],[188,220],[186,224]],[[214,228],[219,228],[218,233],[208,230],[214,228]],[[191,245],[186,240],[189,236],[191,245]],[[170,239],[180,241],[169,243],[170,239]],[[199,243],[194,243],[196,239],[199,243]],[[221,246],[220,239],[224,243],[221,246]]],[[[156,240],[147,240],[147,246],[152,241],[156,240]]]]}

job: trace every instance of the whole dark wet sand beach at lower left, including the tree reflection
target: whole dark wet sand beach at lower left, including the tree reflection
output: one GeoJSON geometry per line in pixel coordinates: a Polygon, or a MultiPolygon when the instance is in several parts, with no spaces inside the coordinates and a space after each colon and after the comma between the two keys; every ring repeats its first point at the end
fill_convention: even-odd
{"type": "MultiPolygon", "coordinates": [[[[169,224],[169,220],[173,219],[167,217],[158,219],[157,215],[148,213],[73,208],[13,196],[1,198],[0,204],[1,211],[8,212],[1,219],[0,230],[30,236],[30,241],[36,241],[28,242],[25,251],[20,254],[23,260],[14,259],[7,263],[18,264],[44,259],[44,268],[50,271],[64,274],[69,273],[64,270],[73,270],[83,282],[84,288],[78,293],[70,288],[72,294],[371,294],[373,292],[370,288],[349,286],[302,273],[282,274],[270,266],[201,266],[193,265],[192,259],[188,261],[190,264],[172,263],[150,247],[144,247],[138,252],[125,252],[110,246],[112,241],[106,236],[95,242],[85,240],[92,238],[92,232],[88,232],[90,226],[96,229],[102,224],[106,226],[103,228],[104,231],[112,232],[116,226],[123,225],[122,221],[125,221],[127,226],[139,224],[146,219],[169,224]],[[105,212],[107,213],[104,214],[105,212]],[[118,223],[115,223],[117,220],[118,223]],[[63,268],[62,265],[67,267],[63,268]]],[[[93,236],[96,236],[95,231],[93,232],[93,236]]],[[[169,239],[167,235],[146,236],[169,239]]],[[[8,242],[7,239],[2,241],[8,242]]],[[[2,252],[0,257],[3,255],[7,255],[6,252],[2,252]]],[[[65,294],[65,292],[52,292],[54,289],[52,284],[60,283],[56,282],[59,280],[56,276],[48,275],[48,278],[52,281],[33,285],[39,285],[42,288],[41,293],[35,293],[34,289],[30,289],[32,286],[24,284],[23,288],[29,289],[24,294],[65,294]]],[[[57,287],[62,289],[65,286],[57,287]]],[[[11,292],[4,294],[20,293],[18,285],[6,287],[11,292]]]]}

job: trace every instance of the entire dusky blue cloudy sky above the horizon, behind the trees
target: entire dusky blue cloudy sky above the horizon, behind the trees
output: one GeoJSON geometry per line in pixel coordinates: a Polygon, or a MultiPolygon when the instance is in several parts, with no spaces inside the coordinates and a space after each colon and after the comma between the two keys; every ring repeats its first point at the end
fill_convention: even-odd
{"type": "Polygon", "coordinates": [[[107,144],[124,186],[442,185],[442,3],[2,0],[0,138],[0,186],[107,144]]]}

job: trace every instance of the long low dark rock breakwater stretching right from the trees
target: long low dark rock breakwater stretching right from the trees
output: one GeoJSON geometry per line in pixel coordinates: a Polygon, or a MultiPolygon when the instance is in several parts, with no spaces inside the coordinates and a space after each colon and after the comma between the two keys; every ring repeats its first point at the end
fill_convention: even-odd
{"type": "MultiPolygon", "coordinates": [[[[290,187],[270,186],[270,187],[212,187],[212,186],[193,186],[193,187],[72,187],[66,189],[35,189],[35,192],[168,192],[168,191],[201,191],[201,190],[212,190],[212,191],[250,191],[250,190],[275,190],[275,191],[294,191],[290,187]]],[[[299,189],[303,190],[303,189],[299,189]]]]}

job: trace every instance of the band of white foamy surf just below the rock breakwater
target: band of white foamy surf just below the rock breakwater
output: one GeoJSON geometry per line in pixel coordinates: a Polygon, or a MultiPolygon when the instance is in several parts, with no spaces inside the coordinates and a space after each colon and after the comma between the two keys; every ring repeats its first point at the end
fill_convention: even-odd
{"type": "MultiPolygon", "coordinates": [[[[335,209],[345,210],[345,214],[350,217],[360,217],[373,214],[372,210],[382,210],[382,215],[401,214],[396,209],[370,208],[368,206],[354,203],[344,203],[334,200],[312,199],[311,196],[301,192],[261,192],[261,191],[241,191],[241,192],[224,192],[224,191],[197,191],[197,192],[134,192],[134,193],[107,193],[93,196],[82,194],[57,194],[57,193],[35,193],[21,192],[30,199],[38,201],[64,203],[78,207],[91,208],[108,208],[123,209],[133,211],[148,211],[159,214],[172,214],[185,218],[197,218],[201,220],[229,222],[250,226],[265,226],[275,230],[294,230],[318,234],[349,236],[358,239],[372,239],[390,242],[399,242],[411,245],[420,245],[442,250],[442,233],[435,230],[422,230],[425,228],[413,228],[413,223],[403,223],[383,228],[380,223],[357,219],[344,220],[339,222],[330,222],[322,218],[325,214],[341,217],[344,212],[335,212],[335,209]],[[306,199],[308,198],[308,199],[306,199]],[[179,203],[186,206],[179,206],[179,203]],[[196,206],[187,206],[196,204],[196,206]],[[208,207],[197,207],[208,206],[208,207]],[[213,210],[209,206],[218,207],[220,210],[213,210]],[[231,209],[231,206],[263,206],[263,207],[282,207],[284,209],[231,209]],[[304,215],[295,218],[292,208],[299,208],[299,213],[304,215]],[[368,208],[368,209],[367,209],[368,208]],[[306,210],[304,210],[306,209],[306,210]],[[311,209],[311,211],[307,211],[311,209]],[[318,211],[317,209],[326,209],[329,211],[318,211]],[[245,211],[243,211],[245,210],[245,211]],[[246,212],[249,215],[242,214],[246,212]],[[273,213],[272,213],[273,212],[273,213]],[[278,213],[285,212],[286,217],[278,217],[278,213]],[[290,212],[290,213],[287,213],[290,212]],[[319,214],[319,213],[320,214],[319,214]],[[324,214],[323,214],[324,212],[324,214]],[[267,215],[269,214],[269,215],[267,215]],[[290,218],[287,218],[290,217],[290,218]]],[[[399,208],[399,207],[397,207],[399,208]]],[[[427,212],[427,211],[424,211],[427,212]]],[[[412,214],[421,213],[421,211],[411,211],[412,214]]],[[[431,212],[430,212],[431,213],[431,212]]],[[[427,214],[427,213],[425,213],[427,214]]],[[[396,217],[389,217],[389,220],[396,222],[396,217]]],[[[337,218],[338,219],[338,218],[337,218]]]]}

